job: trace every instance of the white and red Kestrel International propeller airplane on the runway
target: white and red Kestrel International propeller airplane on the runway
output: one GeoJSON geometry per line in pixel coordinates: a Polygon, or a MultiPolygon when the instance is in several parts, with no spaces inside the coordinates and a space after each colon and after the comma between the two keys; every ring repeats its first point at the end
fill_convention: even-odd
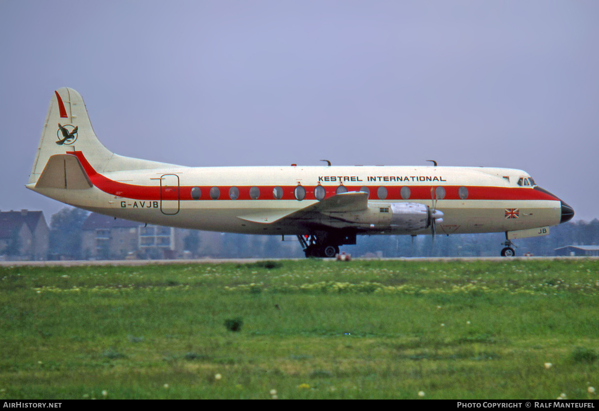
{"type": "Polygon", "coordinates": [[[514,256],[512,240],[547,235],[574,216],[522,170],[326,162],[185,167],[120,156],[96,137],[81,95],[63,87],[50,100],[26,187],[140,223],[295,235],[305,256],[318,258],[357,235],[483,232],[505,232],[501,255],[514,256]]]}

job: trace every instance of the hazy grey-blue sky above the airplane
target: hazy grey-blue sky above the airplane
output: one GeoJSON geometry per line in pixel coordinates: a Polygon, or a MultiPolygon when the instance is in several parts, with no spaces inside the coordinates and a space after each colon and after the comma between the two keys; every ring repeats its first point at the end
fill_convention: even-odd
{"type": "Polygon", "coordinates": [[[126,156],[521,168],[599,217],[597,1],[0,0],[0,209],[68,86],[126,156]]]}

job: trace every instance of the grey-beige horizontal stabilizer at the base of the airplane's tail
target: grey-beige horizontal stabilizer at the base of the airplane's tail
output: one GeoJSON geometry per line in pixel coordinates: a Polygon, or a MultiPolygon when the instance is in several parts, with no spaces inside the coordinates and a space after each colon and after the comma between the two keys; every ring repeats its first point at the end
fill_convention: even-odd
{"type": "Polygon", "coordinates": [[[79,159],[69,154],[51,156],[35,183],[35,188],[62,188],[84,190],[92,188],[92,182],[81,167],[79,159]]]}

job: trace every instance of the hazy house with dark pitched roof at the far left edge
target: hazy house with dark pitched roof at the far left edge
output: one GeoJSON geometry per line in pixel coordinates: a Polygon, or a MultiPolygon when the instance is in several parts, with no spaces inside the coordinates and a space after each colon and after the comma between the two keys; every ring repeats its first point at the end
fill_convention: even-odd
{"type": "Polygon", "coordinates": [[[0,255],[4,259],[45,260],[49,233],[43,211],[1,211],[0,255]]]}

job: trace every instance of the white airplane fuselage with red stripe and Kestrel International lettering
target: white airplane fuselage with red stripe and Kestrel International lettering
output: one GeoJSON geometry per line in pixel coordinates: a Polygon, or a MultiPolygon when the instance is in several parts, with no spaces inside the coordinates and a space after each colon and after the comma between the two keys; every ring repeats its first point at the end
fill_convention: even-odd
{"type": "Polygon", "coordinates": [[[261,215],[286,215],[317,203],[317,186],[322,186],[325,198],[344,186],[347,191],[367,188],[369,205],[404,202],[436,207],[444,214],[443,222],[437,226],[438,234],[515,231],[556,225],[561,219],[558,198],[533,186],[518,185],[519,179],[530,177],[522,170],[434,166],[173,166],[100,174],[87,164],[83,154],[75,154],[93,188],[37,191],[77,207],[143,223],[250,234],[307,234],[314,223],[333,229],[353,227],[363,234],[428,232],[406,232],[401,227],[385,226],[384,220],[380,224],[377,220],[362,224],[358,221],[356,225],[355,221],[324,216],[318,222],[287,219],[278,223],[259,222],[261,215]],[[298,186],[305,190],[302,200],[294,192],[298,186]],[[282,189],[280,199],[275,198],[275,188],[282,189]]]}

